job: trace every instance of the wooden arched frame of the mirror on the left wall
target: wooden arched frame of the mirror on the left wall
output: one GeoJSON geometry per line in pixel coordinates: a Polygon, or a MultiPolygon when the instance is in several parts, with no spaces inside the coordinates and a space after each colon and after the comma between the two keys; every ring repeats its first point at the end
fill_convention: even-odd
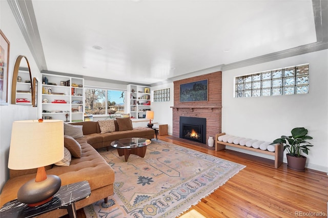
{"type": "MultiPolygon", "coordinates": [[[[12,76],[12,84],[11,84],[11,104],[16,104],[16,90],[17,90],[17,77],[18,77],[18,70],[19,70],[19,65],[20,65],[20,62],[22,61],[22,59],[25,59],[26,60],[26,64],[27,64],[27,68],[28,68],[28,72],[29,72],[29,77],[30,77],[30,88],[32,90],[32,93],[31,93],[31,100],[32,102],[34,102],[34,98],[35,98],[35,90],[34,90],[34,87],[33,87],[33,84],[31,83],[32,81],[32,75],[31,75],[31,68],[30,68],[30,63],[29,61],[27,60],[27,58],[23,55],[19,55],[16,59],[16,63],[15,63],[15,66],[14,66],[14,72],[13,72],[13,76],[12,76]]],[[[27,105],[30,105],[30,104],[27,104],[27,105]]]]}

